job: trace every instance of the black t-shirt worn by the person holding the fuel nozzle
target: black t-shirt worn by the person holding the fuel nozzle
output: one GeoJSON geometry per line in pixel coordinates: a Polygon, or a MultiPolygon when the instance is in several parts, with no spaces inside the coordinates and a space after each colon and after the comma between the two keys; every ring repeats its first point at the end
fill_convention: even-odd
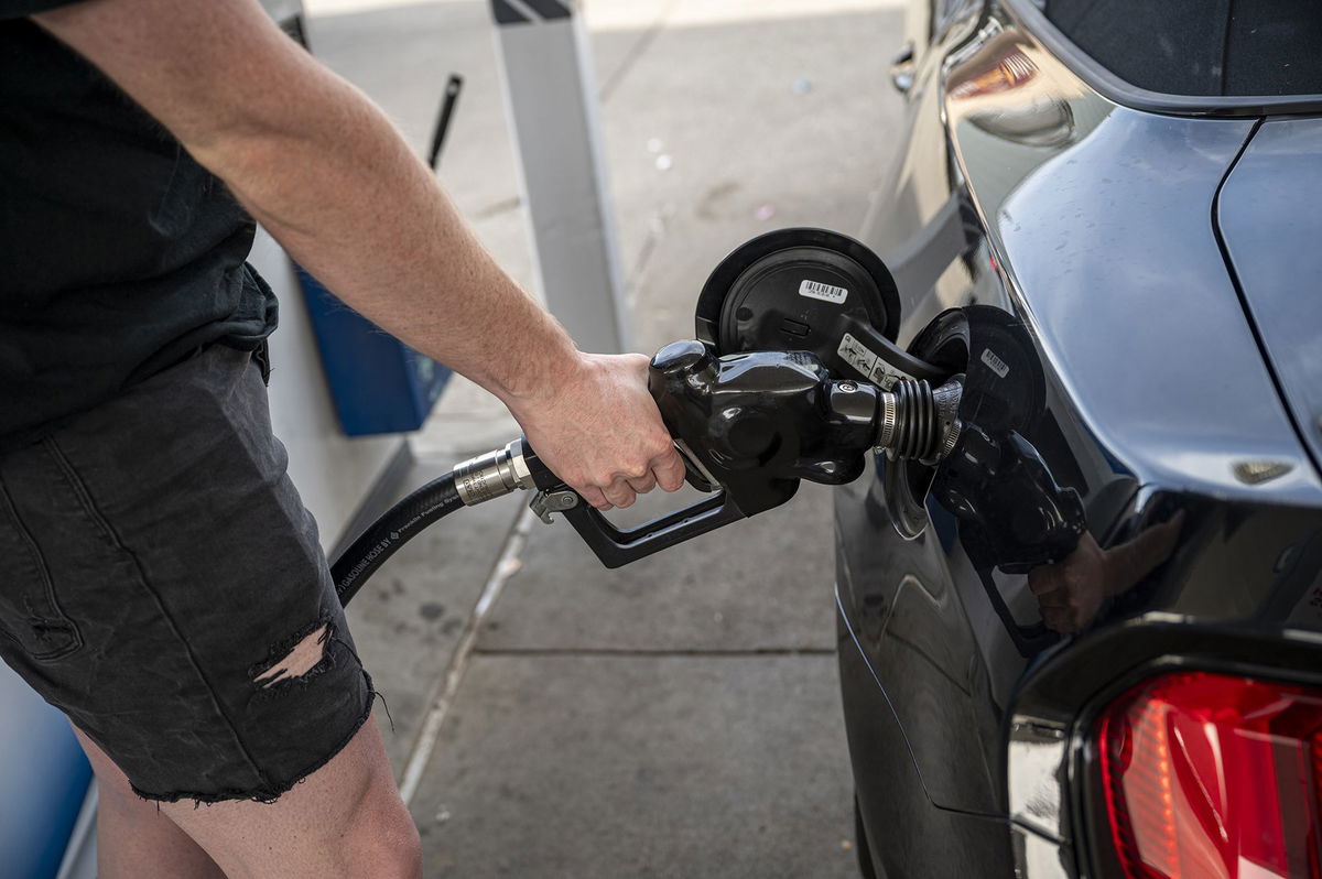
{"type": "Polygon", "coordinates": [[[22,17],[67,3],[0,0],[0,448],[276,321],[225,185],[22,17]]]}

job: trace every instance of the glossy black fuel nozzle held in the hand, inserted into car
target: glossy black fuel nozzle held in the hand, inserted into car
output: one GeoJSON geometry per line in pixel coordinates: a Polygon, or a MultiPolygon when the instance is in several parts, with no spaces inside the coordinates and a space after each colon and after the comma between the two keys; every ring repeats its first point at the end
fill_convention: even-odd
{"type": "Polygon", "coordinates": [[[666,345],[648,387],[687,481],[707,497],[636,529],[617,529],[558,484],[531,449],[533,508],[561,513],[607,567],[619,567],[731,522],[780,506],[801,480],[858,478],[870,449],[936,463],[954,447],[962,377],[937,389],[900,381],[891,390],[838,379],[809,352],[718,357],[703,342],[666,345]]]}

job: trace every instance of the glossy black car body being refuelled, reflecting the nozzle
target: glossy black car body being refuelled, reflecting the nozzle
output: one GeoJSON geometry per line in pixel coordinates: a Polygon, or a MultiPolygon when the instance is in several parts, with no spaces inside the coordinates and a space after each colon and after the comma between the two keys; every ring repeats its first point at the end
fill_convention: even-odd
{"type": "Polygon", "coordinates": [[[1118,851],[1133,827],[1100,764],[1107,718],[1154,682],[1215,701],[1200,682],[1263,681],[1322,716],[1322,100],[1300,94],[1322,89],[1225,86],[1222,56],[1228,95],[1188,94],[1196,40],[1171,49],[1144,16],[1224,4],[1093,4],[1134,19],[1128,56],[1114,20],[1067,34],[1085,4],[1055,5],[917,0],[894,69],[903,147],[863,243],[896,279],[900,344],[968,374],[966,423],[939,467],[876,455],[837,489],[865,872],[1317,875],[1317,768],[1302,810],[1263,781],[1264,809],[1311,822],[1285,860],[1214,827],[1225,850],[1181,874],[1118,851]],[[1108,52],[1137,61],[1117,75],[1108,52]],[[1030,582],[1062,566],[1083,607],[1047,625],[1030,582]]]}

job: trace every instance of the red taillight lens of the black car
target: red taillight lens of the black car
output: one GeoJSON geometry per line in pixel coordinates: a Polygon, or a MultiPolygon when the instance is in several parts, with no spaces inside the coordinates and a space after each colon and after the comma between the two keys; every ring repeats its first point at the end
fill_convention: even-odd
{"type": "Polygon", "coordinates": [[[1097,739],[1129,879],[1322,879],[1322,691],[1167,674],[1112,703],[1097,739]]]}

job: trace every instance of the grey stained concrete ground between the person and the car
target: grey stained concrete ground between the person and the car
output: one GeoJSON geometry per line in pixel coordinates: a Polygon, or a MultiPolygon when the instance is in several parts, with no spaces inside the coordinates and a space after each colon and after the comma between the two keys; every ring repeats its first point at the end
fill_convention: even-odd
{"type": "MultiPolygon", "coordinates": [[[[446,78],[465,78],[440,176],[531,284],[486,3],[308,8],[313,52],[419,152],[446,78]]],[[[899,130],[895,3],[588,0],[583,15],[639,350],[691,336],[702,282],[747,238],[859,230],[899,130]]],[[[456,379],[407,482],[516,431],[456,379]]],[[[855,876],[830,492],[619,571],[524,501],[420,535],[349,615],[427,875],[855,876]]]]}

